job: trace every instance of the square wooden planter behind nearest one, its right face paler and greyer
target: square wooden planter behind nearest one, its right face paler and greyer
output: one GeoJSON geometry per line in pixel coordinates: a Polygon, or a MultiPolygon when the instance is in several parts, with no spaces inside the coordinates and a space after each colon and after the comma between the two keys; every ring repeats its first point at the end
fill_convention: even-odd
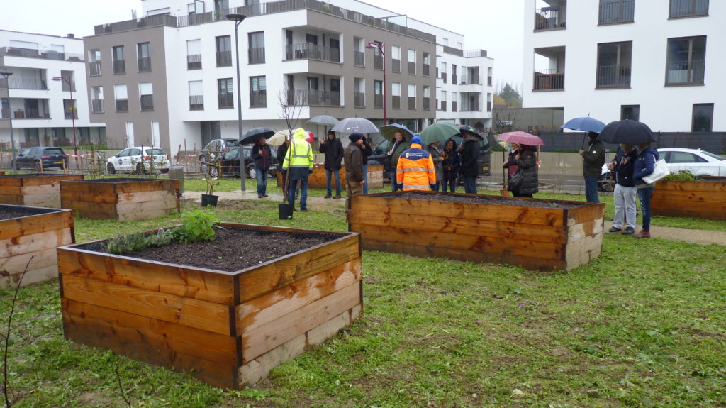
{"type": "Polygon", "coordinates": [[[179,180],[89,179],[62,181],[63,208],[88,219],[155,219],[179,211],[179,180]]]}

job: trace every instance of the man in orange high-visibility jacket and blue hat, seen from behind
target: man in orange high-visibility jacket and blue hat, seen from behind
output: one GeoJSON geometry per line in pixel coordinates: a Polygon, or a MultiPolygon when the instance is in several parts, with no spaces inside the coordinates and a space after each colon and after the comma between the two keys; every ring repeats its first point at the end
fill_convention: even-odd
{"type": "Polygon", "coordinates": [[[396,168],[399,189],[429,191],[436,184],[436,170],[433,168],[431,153],[421,147],[421,138],[413,136],[411,148],[401,153],[396,168]]]}

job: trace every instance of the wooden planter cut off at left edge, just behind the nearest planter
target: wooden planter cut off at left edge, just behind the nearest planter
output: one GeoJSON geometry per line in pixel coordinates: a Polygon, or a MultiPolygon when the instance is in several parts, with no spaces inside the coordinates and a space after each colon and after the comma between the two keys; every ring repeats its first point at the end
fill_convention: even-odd
{"type": "Polygon", "coordinates": [[[0,287],[17,287],[26,266],[21,286],[57,277],[56,248],[76,242],[73,213],[0,204],[0,217],[0,275],[7,275],[0,276],[0,287]],[[4,218],[6,211],[17,216],[4,218]]]}

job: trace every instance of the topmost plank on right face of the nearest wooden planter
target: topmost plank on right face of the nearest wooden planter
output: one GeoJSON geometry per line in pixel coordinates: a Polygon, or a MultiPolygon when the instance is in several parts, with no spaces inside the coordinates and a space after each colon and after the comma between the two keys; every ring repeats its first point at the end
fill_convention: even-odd
{"type": "Polygon", "coordinates": [[[250,301],[356,258],[360,258],[357,234],[278,258],[240,275],[240,302],[250,301]]]}

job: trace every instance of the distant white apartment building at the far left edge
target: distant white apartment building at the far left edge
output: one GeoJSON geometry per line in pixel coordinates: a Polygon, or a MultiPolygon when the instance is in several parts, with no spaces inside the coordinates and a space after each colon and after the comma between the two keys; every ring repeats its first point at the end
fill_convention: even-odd
{"type": "Polygon", "coordinates": [[[105,139],[103,123],[93,123],[86,94],[83,41],[0,30],[0,144],[17,149],[69,146],[73,129],[79,145],[105,139]],[[75,113],[75,115],[73,115],[75,113]],[[11,121],[12,118],[12,121],[11,121]]]}

